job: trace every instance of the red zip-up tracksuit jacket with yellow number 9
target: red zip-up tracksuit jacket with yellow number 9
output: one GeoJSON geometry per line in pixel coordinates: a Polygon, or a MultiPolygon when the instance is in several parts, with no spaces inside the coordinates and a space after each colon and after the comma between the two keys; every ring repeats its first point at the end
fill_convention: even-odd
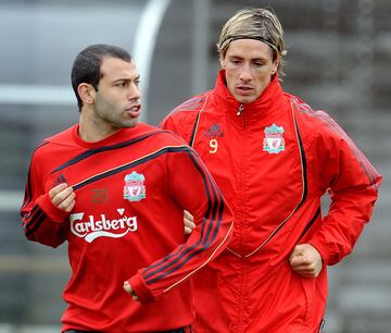
{"type": "Polygon", "coordinates": [[[283,92],[277,76],[242,106],[224,77],[161,124],[199,152],[235,213],[232,242],[193,278],[194,332],[317,332],[327,270],[302,279],[289,255],[300,243],[325,264],[351,252],[381,176],[328,114],[283,92]],[[331,207],[321,217],[326,190],[331,207]]]}

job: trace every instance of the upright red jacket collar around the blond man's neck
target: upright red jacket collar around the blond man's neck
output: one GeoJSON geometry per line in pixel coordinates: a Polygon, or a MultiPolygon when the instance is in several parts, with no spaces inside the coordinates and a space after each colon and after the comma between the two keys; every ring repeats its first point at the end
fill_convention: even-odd
{"type": "MultiPolygon", "coordinates": [[[[214,88],[215,96],[218,100],[217,112],[225,112],[227,115],[239,119],[238,111],[241,103],[229,92],[225,84],[225,71],[220,70],[217,75],[217,81],[214,88]],[[222,108],[220,108],[222,107],[222,108]]],[[[278,81],[278,75],[275,75],[269,85],[265,88],[262,95],[253,102],[242,104],[243,115],[247,121],[260,121],[269,116],[277,116],[281,112],[281,107],[285,103],[282,88],[278,81]]]]}

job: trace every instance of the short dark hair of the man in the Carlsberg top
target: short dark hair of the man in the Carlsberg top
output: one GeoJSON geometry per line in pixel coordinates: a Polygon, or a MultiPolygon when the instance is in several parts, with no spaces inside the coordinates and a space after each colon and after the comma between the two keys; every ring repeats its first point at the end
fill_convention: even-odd
{"type": "Polygon", "coordinates": [[[129,52],[121,47],[96,44],[88,46],[80,51],[72,66],[72,87],[77,98],[77,106],[79,111],[83,107],[83,100],[78,95],[77,87],[81,83],[90,84],[96,90],[98,90],[99,81],[102,77],[101,65],[103,58],[118,58],[127,62],[131,62],[129,52]]]}

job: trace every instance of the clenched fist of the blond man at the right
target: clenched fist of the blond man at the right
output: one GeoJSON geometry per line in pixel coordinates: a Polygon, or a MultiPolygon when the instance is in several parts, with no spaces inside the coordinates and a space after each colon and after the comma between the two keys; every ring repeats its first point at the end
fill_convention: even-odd
{"type": "Polygon", "coordinates": [[[297,245],[289,256],[289,263],[293,272],[303,278],[316,278],[323,268],[321,256],[311,244],[297,245]]]}

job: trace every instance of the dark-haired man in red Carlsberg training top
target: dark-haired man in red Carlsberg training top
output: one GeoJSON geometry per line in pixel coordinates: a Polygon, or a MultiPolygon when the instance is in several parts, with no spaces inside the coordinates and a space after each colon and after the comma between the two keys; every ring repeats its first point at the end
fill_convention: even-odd
{"type": "Polygon", "coordinates": [[[139,77],[121,48],[83,50],[72,70],[79,123],[33,155],[23,226],[29,240],[68,243],[63,332],[188,332],[189,278],[231,234],[230,210],[197,153],[138,123],[139,77]],[[185,208],[197,224],[187,242],[185,208]]]}

